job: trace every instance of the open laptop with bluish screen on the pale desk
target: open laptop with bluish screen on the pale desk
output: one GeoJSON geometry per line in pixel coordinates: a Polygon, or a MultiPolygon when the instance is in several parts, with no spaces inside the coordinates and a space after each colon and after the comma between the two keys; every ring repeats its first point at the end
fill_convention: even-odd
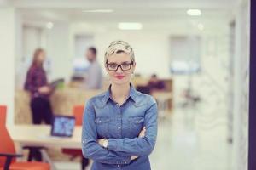
{"type": "Polygon", "coordinates": [[[74,116],[54,116],[51,123],[51,136],[72,137],[75,127],[74,116]]]}

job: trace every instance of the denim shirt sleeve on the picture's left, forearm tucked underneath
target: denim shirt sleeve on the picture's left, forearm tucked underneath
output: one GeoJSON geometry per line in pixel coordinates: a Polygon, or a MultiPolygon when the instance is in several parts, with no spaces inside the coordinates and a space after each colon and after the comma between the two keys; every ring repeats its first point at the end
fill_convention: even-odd
{"type": "Polygon", "coordinates": [[[107,164],[129,164],[131,156],[120,156],[112,150],[102,148],[97,143],[95,109],[93,100],[89,99],[84,108],[82,128],[82,151],[86,158],[107,164]]]}

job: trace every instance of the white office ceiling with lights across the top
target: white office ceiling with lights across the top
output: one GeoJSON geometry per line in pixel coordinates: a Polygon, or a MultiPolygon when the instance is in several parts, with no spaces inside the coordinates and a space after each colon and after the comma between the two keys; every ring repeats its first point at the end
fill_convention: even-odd
{"type": "MultiPolygon", "coordinates": [[[[1,1],[1,0],[0,0],[1,1]]],[[[3,1],[3,0],[2,0],[3,1]]],[[[87,22],[114,24],[142,22],[173,25],[173,22],[198,20],[211,24],[214,20],[230,20],[240,0],[5,0],[18,8],[22,20],[32,22],[87,22]],[[186,13],[201,9],[200,17],[186,13]],[[84,10],[112,9],[112,13],[84,13],[84,10]]]]}

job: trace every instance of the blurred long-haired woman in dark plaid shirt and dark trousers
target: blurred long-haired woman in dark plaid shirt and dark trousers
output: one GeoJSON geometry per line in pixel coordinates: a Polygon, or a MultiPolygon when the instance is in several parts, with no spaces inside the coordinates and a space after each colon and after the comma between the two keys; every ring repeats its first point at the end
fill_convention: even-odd
{"type": "MultiPolygon", "coordinates": [[[[46,124],[50,124],[53,116],[49,102],[49,96],[53,89],[50,88],[47,82],[46,73],[43,68],[44,60],[44,49],[36,49],[33,54],[32,65],[26,73],[24,88],[29,91],[31,95],[30,107],[33,124],[41,124],[42,121],[46,124]]],[[[30,149],[28,161],[32,161],[33,158],[37,161],[42,161],[41,153],[37,148],[30,149]]]]}

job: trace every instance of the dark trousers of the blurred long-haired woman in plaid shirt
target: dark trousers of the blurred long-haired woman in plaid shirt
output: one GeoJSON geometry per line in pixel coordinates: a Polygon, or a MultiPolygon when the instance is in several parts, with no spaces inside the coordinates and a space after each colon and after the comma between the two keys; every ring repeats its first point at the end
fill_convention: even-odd
{"type": "MultiPolygon", "coordinates": [[[[30,102],[32,110],[32,123],[41,124],[42,121],[45,124],[50,124],[53,116],[49,99],[42,97],[33,98],[30,102]]],[[[38,147],[29,147],[29,155],[27,161],[42,161],[42,155],[38,147]]]]}

